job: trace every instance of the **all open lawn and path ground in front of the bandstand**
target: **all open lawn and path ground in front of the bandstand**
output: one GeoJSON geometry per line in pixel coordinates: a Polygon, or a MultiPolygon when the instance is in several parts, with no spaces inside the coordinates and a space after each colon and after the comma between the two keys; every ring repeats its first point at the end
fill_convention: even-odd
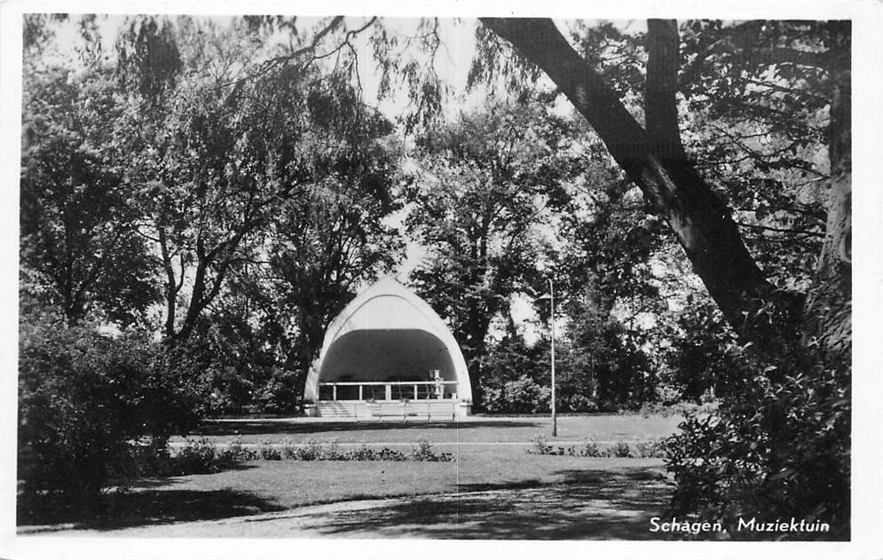
{"type": "MultiPolygon", "coordinates": [[[[20,519],[20,534],[114,537],[661,539],[672,483],[658,458],[528,454],[651,442],[678,416],[597,414],[558,419],[470,417],[461,422],[217,420],[197,437],[223,447],[337,442],[410,451],[426,439],[454,461],[243,461],[221,472],[142,478],[92,521],[20,519]]],[[[181,446],[182,440],[173,441],[181,446]]]]}

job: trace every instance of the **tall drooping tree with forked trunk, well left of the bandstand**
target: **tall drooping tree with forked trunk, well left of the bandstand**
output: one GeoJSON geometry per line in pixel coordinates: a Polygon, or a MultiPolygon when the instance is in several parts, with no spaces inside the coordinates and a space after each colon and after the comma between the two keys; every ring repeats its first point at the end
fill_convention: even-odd
{"type": "Polygon", "coordinates": [[[136,154],[127,177],[162,261],[169,341],[193,334],[248,257],[247,241],[269,224],[270,206],[308,173],[299,143],[313,78],[243,80],[256,47],[220,41],[211,25],[178,24],[135,21],[118,45],[122,82],[139,93],[120,132],[136,154]]]}

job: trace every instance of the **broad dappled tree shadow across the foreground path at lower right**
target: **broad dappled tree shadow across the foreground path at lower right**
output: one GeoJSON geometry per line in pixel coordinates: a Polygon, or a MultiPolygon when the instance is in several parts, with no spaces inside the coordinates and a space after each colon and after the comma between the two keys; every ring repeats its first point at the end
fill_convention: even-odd
{"type": "Polygon", "coordinates": [[[429,539],[656,540],[650,517],[667,506],[671,486],[658,469],[561,471],[564,482],[461,485],[458,496],[397,501],[341,511],[315,527],[329,536],[372,532],[429,539]]]}

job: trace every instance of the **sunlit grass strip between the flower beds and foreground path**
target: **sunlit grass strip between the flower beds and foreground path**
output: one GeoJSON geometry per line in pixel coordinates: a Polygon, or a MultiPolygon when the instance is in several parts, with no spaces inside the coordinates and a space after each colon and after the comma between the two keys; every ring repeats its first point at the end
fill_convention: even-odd
{"type": "MultiPolygon", "coordinates": [[[[439,447],[444,450],[451,451],[439,447]]],[[[149,480],[146,487],[234,490],[259,497],[273,509],[290,509],[332,501],[567,484],[611,470],[659,478],[664,468],[658,459],[532,455],[520,448],[484,447],[461,451],[452,462],[248,461],[241,469],[211,475],[149,480]]]]}

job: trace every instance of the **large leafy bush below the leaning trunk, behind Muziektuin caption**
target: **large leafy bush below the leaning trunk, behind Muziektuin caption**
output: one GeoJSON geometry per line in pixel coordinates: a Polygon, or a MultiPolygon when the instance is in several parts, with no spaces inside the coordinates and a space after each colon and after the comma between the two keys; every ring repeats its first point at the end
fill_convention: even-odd
{"type": "Polygon", "coordinates": [[[716,413],[690,415],[670,439],[670,513],[729,529],[740,516],[818,519],[832,531],[814,538],[848,538],[848,364],[799,352],[776,365],[746,357],[737,383],[716,413]]]}

